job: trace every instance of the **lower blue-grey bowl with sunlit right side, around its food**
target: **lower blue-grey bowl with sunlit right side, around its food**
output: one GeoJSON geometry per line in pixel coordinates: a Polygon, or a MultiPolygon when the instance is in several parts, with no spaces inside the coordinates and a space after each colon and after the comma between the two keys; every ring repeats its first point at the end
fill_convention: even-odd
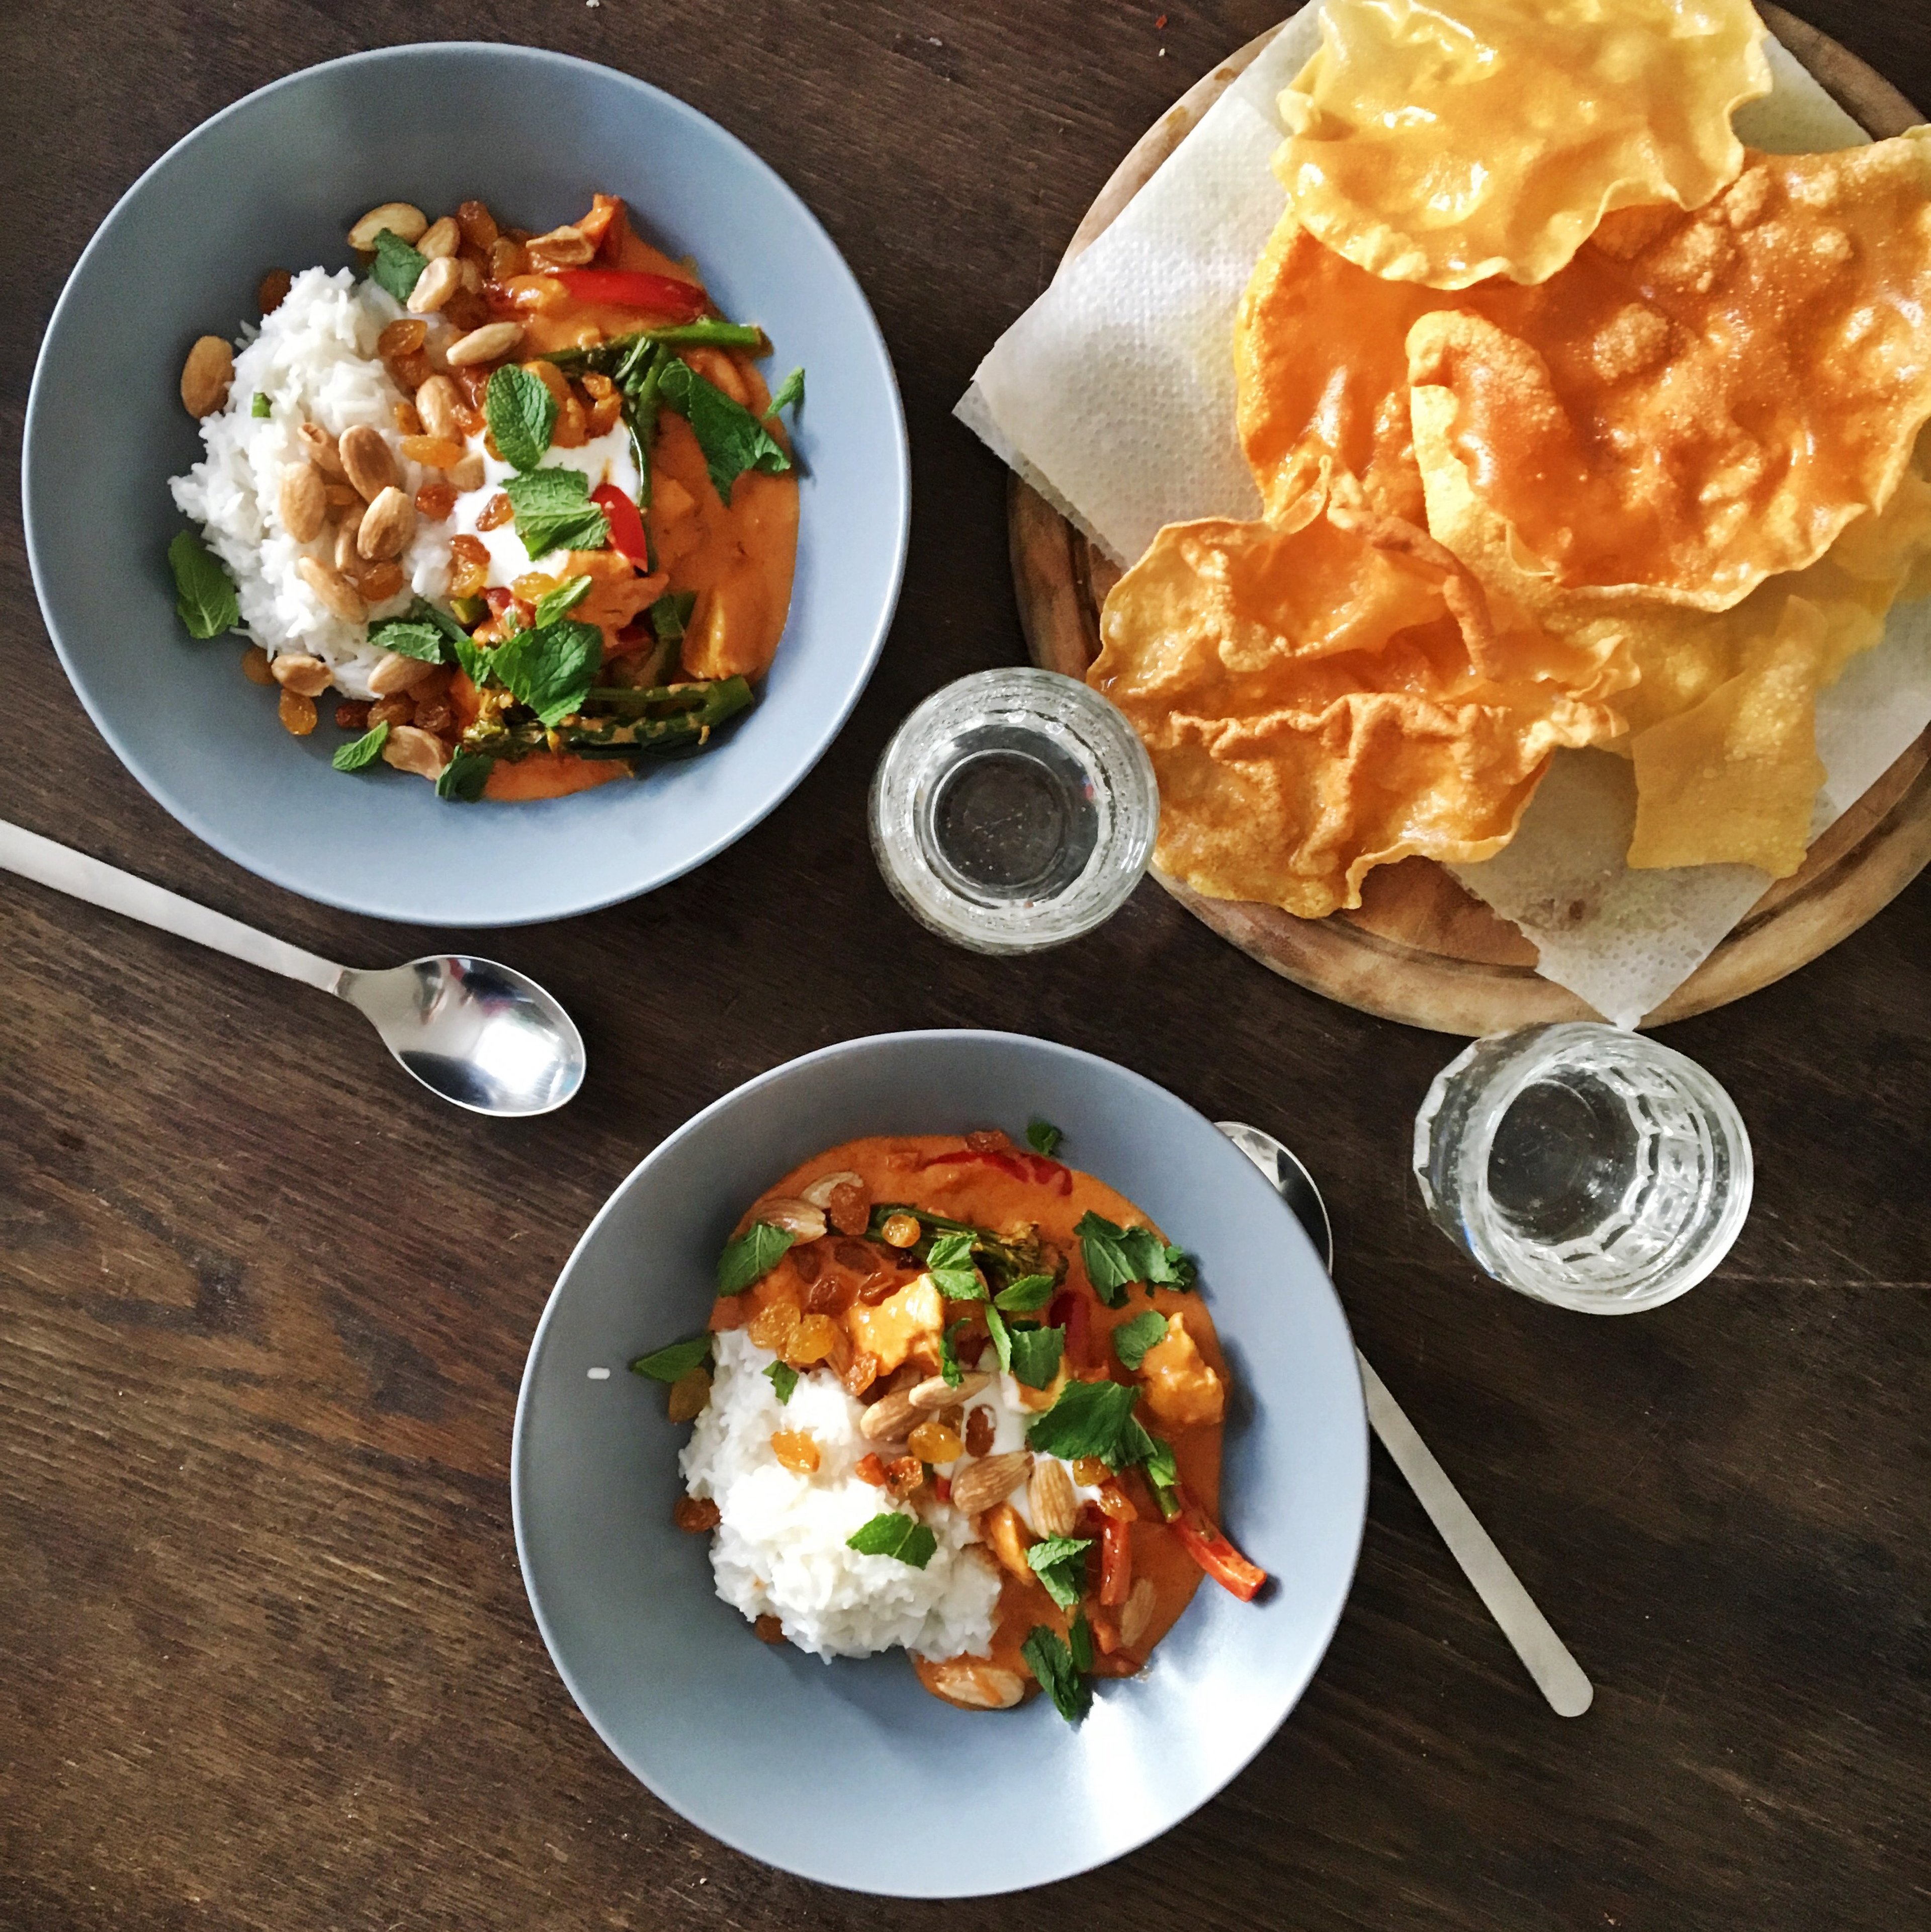
{"type": "Polygon", "coordinates": [[[1118,1859],[1267,1743],[1354,1577],[1367,1422],[1321,1262],[1209,1121],[1047,1039],[884,1034],[724,1095],[610,1196],[537,1327],[510,1482],[543,1640],[583,1716],[666,1804],[805,1878],[962,1897],[1118,1859]],[[672,1526],[687,1432],[662,1387],[626,1372],[703,1323],[732,1223],[798,1161],[859,1134],[1021,1134],[1033,1115],[1199,1256],[1236,1378],[1226,1520],[1274,1578],[1253,1604],[1201,1584],[1145,1675],[1101,1685],[1077,1727],[1045,1698],[954,1710],[898,1654],[825,1663],[759,1644],[713,1592],[709,1540],[672,1526]]]}

